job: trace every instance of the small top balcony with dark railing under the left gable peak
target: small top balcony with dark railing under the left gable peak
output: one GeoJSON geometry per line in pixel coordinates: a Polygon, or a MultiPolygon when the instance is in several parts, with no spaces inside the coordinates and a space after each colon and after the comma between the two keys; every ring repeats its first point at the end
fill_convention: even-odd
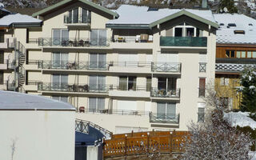
{"type": "Polygon", "coordinates": [[[67,14],[64,15],[64,24],[66,26],[90,26],[90,16],[67,14]]]}

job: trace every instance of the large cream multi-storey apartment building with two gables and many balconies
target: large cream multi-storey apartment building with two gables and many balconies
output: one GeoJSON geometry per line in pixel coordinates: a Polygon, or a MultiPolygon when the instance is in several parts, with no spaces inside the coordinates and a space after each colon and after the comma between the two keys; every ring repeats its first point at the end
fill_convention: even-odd
{"type": "Polygon", "coordinates": [[[41,26],[13,29],[26,50],[15,90],[70,102],[77,118],[114,133],[204,121],[218,30],[210,10],[64,0],[33,17],[41,26]]]}

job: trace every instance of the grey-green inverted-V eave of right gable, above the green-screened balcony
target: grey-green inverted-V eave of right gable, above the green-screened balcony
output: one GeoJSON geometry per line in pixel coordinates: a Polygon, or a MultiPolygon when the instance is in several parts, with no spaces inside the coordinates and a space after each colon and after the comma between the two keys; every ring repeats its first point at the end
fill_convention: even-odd
{"type": "Polygon", "coordinates": [[[171,14],[171,15],[165,17],[165,18],[159,19],[158,21],[152,22],[152,23],[150,23],[150,28],[152,28],[154,26],[157,26],[158,24],[161,24],[163,22],[167,22],[171,19],[178,18],[179,16],[182,16],[182,15],[186,15],[190,18],[194,18],[194,19],[198,20],[199,22],[206,23],[206,24],[208,24],[210,26],[213,26],[214,28],[218,29],[218,24],[216,22],[211,22],[211,21],[209,21],[205,18],[202,18],[202,17],[200,17],[196,14],[192,14],[192,13],[186,11],[186,10],[181,10],[178,13],[171,14]]]}

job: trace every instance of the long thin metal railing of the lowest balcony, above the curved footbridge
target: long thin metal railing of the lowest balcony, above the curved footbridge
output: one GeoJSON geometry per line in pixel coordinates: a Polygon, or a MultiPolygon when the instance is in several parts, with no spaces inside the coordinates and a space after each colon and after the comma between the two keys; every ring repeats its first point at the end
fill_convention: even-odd
{"type": "Polygon", "coordinates": [[[115,114],[115,115],[139,115],[139,116],[149,116],[150,111],[145,110],[109,110],[109,109],[90,109],[80,107],[77,112],[79,113],[91,113],[91,114],[115,114]]]}

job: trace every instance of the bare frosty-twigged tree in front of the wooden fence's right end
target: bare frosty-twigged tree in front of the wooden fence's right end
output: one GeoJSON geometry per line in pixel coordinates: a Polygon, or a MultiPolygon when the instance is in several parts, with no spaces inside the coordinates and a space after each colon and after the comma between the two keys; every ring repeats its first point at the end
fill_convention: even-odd
{"type": "Polygon", "coordinates": [[[184,143],[185,152],[181,159],[249,159],[252,142],[250,135],[231,127],[223,118],[226,107],[218,103],[214,90],[211,90],[208,96],[214,96],[209,99],[209,104],[211,103],[214,109],[208,110],[206,122],[191,122],[188,126],[190,136],[184,143]]]}

